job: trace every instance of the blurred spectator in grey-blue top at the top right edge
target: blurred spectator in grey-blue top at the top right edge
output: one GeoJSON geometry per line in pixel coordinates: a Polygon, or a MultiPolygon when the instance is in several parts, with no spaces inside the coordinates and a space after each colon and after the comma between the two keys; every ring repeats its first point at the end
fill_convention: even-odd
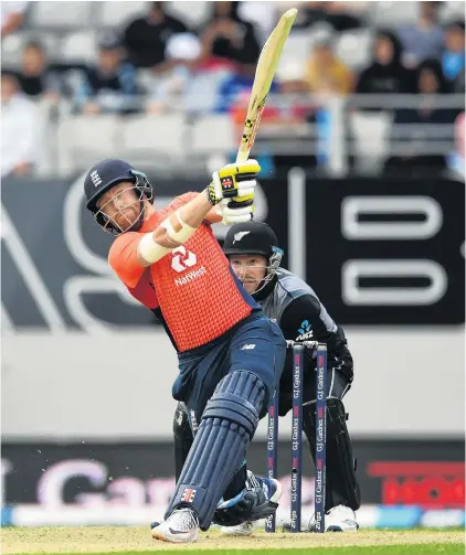
{"type": "Polygon", "coordinates": [[[415,67],[427,58],[439,60],[443,50],[443,29],[438,23],[442,2],[417,2],[417,21],[398,30],[406,67],[415,67]]]}

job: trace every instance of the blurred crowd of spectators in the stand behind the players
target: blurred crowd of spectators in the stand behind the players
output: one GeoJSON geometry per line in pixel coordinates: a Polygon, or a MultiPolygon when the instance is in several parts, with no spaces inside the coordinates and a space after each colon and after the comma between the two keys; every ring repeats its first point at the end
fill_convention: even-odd
{"type": "MultiPolygon", "coordinates": [[[[443,3],[417,2],[416,21],[396,29],[373,30],[369,60],[362,67],[348,64],[339,55],[341,49],[337,52],[335,45],[340,33],[367,25],[366,11],[373,2],[364,1],[275,2],[274,9],[271,2],[215,1],[210,2],[209,17],[195,29],[169,11],[170,2],[148,2],[145,14],[121,29],[106,30],[98,38],[93,63],[52,62],[38,36],[22,47],[18,66],[2,66],[3,130],[14,128],[15,137],[24,137],[20,161],[14,161],[8,151],[2,152],[6,160],[11,158],[7,169],[2,162],[2,174],[21,174],[30,166],[25,152],[38,117],[31,99],[57,103],[64,98],[73,114],[83,115],[163,114],[183,109],[189,114],[230,114],[240,121],[264,40],[277,17],[292,6],[299,8],[292,34],[314,33],[316,25],[319,32],[314,33],[304,63],[297,67],[290,64],[280,72],[272,93],[309,95],[309,98],[422,95],[417,108],[394,109],[394,121],[453,126],[464,110],[437,109],[428,100],[433,95],[465,93],[465,21],[463,17],[441,24],[443,3]],[[18,134],[18,127],[22,134],[18,134]]],[[[28,4],[2,2],[2,41],[21,30],[28,4]]],[[[386,109],[383,105],[366,108],[383,109],[386,109]]],[[[322,115],[318,102],[299,102],[288,105],[286,110],[271,106],[265,114],[266,121],[280,118],[318,121],[322,115]]],[[[413,136],[409,132],[394,136],[393,140],[410,141],[414,134],[413,130],[413,136]]],[[[19,150],[18,146],[14,150],[19,150]]],[[[409,169],[413,163],[419,160],[394,157],[388,160],[388,168],[401,164],[409,169]]],[[[422,163],[442,166],[444,157],[424,157],[422,163]]]]}

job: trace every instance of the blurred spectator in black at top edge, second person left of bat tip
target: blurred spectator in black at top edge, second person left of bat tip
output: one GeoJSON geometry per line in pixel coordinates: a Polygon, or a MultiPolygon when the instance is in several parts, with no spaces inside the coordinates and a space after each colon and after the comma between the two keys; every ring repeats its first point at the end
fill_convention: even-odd
{"type": "Polygon", "coordinates": [[[177,33],[188,32],[184,23],[166,13],[165,4],[150,2],[147,17],[133,21],[124,32],[124,45],[136,67],[165,71],[167,42],[177,33]]]}

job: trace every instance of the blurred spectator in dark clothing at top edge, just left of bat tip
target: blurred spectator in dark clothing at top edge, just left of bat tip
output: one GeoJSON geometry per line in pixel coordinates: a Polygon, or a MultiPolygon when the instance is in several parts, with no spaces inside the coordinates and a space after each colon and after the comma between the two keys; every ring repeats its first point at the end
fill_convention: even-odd
{"type": "Polygon", "coordinates": [[[210,20],[201,34],[203,60],[255,65],[261,46],[253,25],[237,13],[239,2],[211,2],[211,7],[210,20]]]}

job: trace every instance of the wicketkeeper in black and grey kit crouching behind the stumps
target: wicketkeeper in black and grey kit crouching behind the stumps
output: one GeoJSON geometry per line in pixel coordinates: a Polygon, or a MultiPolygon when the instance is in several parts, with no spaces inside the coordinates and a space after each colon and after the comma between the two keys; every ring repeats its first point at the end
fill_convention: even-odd
{"type": "MultiPolygon", "coordinates": [[[[223,250],[246,291],[262,306],[264,313],[278,323],[287,340],[327,344],[326,531],[356,532],[359,525],[354,511],[361,501],[347,414],[341,401],[353,378],[353,363],[345,332],[328,314],[315,291],[296,275],[279,267],[283,250],[267,224],[248,221],[233,225],[226,234],[223,250]]],[[[292,377],[293,355],[288,352],[279,382],[280,416],[286,415],[293,406],[292,377]]],[[[316,442],[315,386],[315,360],[310,352],[306,352],[303,428],[311,458],[316,442]]],[[[192,441],[182,404],[179,404],[174,414],[173,435],[178,477],[192,441]]],[[[313,527],[314,516],[309,530],[313,527]]],[[[222,532],[232,535],[250,535],[253,531],[252,521],[222,529],[222,532]]]]}

